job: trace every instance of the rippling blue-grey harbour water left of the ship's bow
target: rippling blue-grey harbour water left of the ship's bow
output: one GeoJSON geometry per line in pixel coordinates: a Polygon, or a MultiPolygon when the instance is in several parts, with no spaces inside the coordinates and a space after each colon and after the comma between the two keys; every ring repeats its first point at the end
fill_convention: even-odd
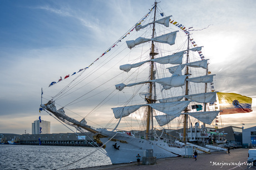
{"type": "Polygon", "coordinates": [[[0,144],[0,169],[76,169],[111,164],[106,154],[96,150],[94,147],[0,144]]]}

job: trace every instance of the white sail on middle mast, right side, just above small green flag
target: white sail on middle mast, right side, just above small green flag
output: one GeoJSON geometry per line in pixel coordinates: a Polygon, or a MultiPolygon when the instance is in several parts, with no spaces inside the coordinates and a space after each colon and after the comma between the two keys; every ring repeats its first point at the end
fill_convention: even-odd
{"type": "Polygon", "coordinates": [[[209,103],[216,101],[216,92],[190,94],[184,97],[199,103],[209,103]]]}

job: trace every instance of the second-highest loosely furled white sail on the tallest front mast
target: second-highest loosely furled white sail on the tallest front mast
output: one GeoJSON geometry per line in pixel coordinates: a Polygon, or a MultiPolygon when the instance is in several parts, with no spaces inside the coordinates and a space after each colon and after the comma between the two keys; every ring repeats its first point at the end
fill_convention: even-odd
{"type": "Polygon", "coordinates": [[[135,40],[126,41],[126,44],[130,49],[134,48],[136,45],[139,45],[141,43],[145,43],[145,42],[148,42],[148,41],[155,41],[155,42],[167,43],[169,45],[173,45],[175,43],[175,39],[176,39],[176,32],[178,32],[178,31],[171,32],[171,33],[168,33],[168,34],[164,34],[162,36],[155,37],[155,38],[139,37],[135,40]]]}

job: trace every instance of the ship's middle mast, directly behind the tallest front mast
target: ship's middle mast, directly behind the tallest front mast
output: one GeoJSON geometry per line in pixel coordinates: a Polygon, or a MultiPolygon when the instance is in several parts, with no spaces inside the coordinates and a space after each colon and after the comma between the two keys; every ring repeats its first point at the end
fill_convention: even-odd
{"type": "MultiPolygon", "coordinates": [[[[186,52],[186,63],[189,62],[189,34],[188,34],[188,51],[186,52]]],[[[189,77],[189,67],[186,66],[186,79],[189,77]]],[[[186,92],[185,95],[189,94],[189,82],[186,81],[186,92]]],[[[185,98],[185,101],[188,101],[188,98],[185,98]]],[[[185,113],[188,113],[188,107],[185,109],[185,113]]],[[[188,114],[184,114],[184,124],[183,124],[183,142],[186,142],[186,128],[188,126],[188,114]]]]}

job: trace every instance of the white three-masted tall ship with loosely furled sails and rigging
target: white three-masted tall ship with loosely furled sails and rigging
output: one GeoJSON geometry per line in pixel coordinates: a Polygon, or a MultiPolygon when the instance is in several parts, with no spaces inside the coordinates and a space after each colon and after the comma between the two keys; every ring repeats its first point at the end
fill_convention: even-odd
{"type": "MultiPolygon", "coordinates": [[[[157,5],[155,2],[139,22],[92,63],[96,69],[89,72],[91,64],[73,73],[74,79],[71,83],[65,84],[65,87],[56,96],[48,99],[46,104],[41,104],[41,111],[53,114],[60,121],[75,127],[77,131],[95,134],[94,139],[105,149],[113,164],[136,161],[136,155],[139,153],[143,156],[147,149],[153,149],[156,158],[184,155],[184,148],[175,146],[169,139],[157,136],[155,127],[169,126],[175,122],[174,126],[184,128],[182,141],[187,142],[187,127],[192,120],[200,122],[202,126],[215,124],[214,119],[220,112],[214,104],[216,91],[211,88],[215,74],[208,71],[209,59],[204,58],[203,47],[196,45],[191,37],[191,28],[174,21],[172,16],[165,16],[157,5]],[[123,44],[126,47],[122,46],[123,44]],[[106,57],[107,55],[109,57],[106,57]],[[101,57],[106,57],[106,60],[97,65],[96,62],[101,57]],[[120,63],[121,71],[114,71],[120,63]],[[102,68],[101,72],[98,72],[99,68],[102,68]],[[83,76],[86,72],[86,76],[83,76]],[[102,81],[96,79],[96,74],[103,79],[102,84],[97,84],[102,81]],[[82,82],[87,84],[82,85],[82,82]],[[93,87],[89,85],[90,82],[95,83],[93,87]],[[112,83],[115,83],[115,86],[112,83]],[[81,89],[85,89],[83,94],[77,93],[81,89]],[[104,98],[105,93],[102,92],[109,94],[104,98]],[[75,96],[72,94],[75,94],[76,98],[72,99],[75,96]],[[72,102],[62,102],[61,99],[65,97],[72,102]],[[87,106],[87,116],[82,117],[81,121],[71,118],[70,114],[73,112],[70,110],[77,110],[72,104],[83,103],[86,106],[86,102],[92,97],[102,98],[102,101],[99,101],[92,111],[87,111],[87,108],[91,108],[87,106]],[[119,101],[114,104],[115,99],[119,101]],[[92,113],[97,114],[97,119],[109,117],[109,111],[104,104],[116,106],[112,108],[112,112],[117,121],[114,122],[112,118],[107,126],[102,128],[89,126],[88,121],[93,123],[90,119],[92,113]],[[99,107],[102,107],[103,111],[97,112],[99,107]],[[137,123],[139,117],[142,119],[141,123],[137,123]],[[134,126],[135,122],[140,128],[145,128],[145,134],[129,131],[132,128],[138,129],[138,126],[134,126]],[[183,123],[180,125],[177,122],[183,123]],[[130,124],[131,128],[120,130],[118,127],[124,124],[130,124]]],[[[60,84],[60,81],[62,78],[58,82],[52,82],[50,86],[57,87],[55,84],[60,84]]]]}

